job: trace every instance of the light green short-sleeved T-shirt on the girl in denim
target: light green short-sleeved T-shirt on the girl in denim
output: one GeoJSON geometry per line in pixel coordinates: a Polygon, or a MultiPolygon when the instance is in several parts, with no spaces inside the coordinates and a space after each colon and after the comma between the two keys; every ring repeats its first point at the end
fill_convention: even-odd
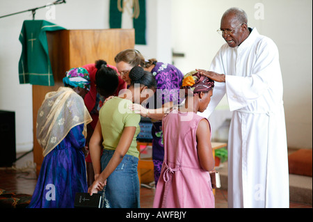
{"type": "Polygon", "coordinates": [[[131,104],[130,100],[113,97],[107,101],[99,111],[99,122],[101,124],[104,149],[115,150],[122,136],[124,127],[136,127],[136,133],[127,154],[138,157],[136,138],[141,131],[139,122],[140,114],[136,114],[128,107],[131,104]]]}

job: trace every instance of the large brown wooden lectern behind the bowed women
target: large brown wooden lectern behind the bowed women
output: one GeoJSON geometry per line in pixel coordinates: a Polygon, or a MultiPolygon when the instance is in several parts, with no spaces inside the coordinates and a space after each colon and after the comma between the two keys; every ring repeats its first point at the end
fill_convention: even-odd
{"type": "Polygon", "coordinates": [[[42,148],[36,138],[38,109],[48,92],[63,86],[65,72],[103,59],[115,65],[114,57],[124,49],[134,49],[134,29],[61,30],[47,32],[54,86],[33,85],[33,161],[37,175],[43,161],[42,148]]]}

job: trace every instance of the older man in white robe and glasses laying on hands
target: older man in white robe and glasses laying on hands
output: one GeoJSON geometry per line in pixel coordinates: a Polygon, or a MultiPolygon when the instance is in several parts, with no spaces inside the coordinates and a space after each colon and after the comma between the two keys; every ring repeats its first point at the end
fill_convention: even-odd
{"type": "Polygon", "coordinates": [[[248,27],[246,13],[227,10],[226,43],[209,71],[216,81],[208,117],[226,93],[232,112],[228,139],[228,207],[289,207],[282,74],[273,40],[248,27]]]}

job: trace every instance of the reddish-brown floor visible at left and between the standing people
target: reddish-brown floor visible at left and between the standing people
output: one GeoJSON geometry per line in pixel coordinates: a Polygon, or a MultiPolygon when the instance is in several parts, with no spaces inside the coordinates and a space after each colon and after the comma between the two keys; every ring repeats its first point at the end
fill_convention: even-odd
{"type": "MultiPolygon", "coordinates": [[[[19,157],[17,155],[17,157],[19,157]]],[[[15,163],[15,168],[0,168],[0,189],[15,193],[33,194],[37,181],[33,168],[33,153],[30,152],[15,163]]],[[[152,207],[154,189],[141,187],[141,207],[152,207]]],[[[227,190],[216,190],[216,208],[227,208],[227,190]]],[[[312,205],[290,203],[290,208],[312,208],[312,205]]]]}

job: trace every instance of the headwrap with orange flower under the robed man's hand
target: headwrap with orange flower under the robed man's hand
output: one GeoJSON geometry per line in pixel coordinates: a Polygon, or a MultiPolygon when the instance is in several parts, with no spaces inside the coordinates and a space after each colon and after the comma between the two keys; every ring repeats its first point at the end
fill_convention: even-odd
{"type": "Polygon", "coordinates": [[[193,94],[207,92],[214,88],[214,81],[194,70],[184,75],[182,88],[185,89],[185,95],[188,95],[188,90],[193,94]]]}

